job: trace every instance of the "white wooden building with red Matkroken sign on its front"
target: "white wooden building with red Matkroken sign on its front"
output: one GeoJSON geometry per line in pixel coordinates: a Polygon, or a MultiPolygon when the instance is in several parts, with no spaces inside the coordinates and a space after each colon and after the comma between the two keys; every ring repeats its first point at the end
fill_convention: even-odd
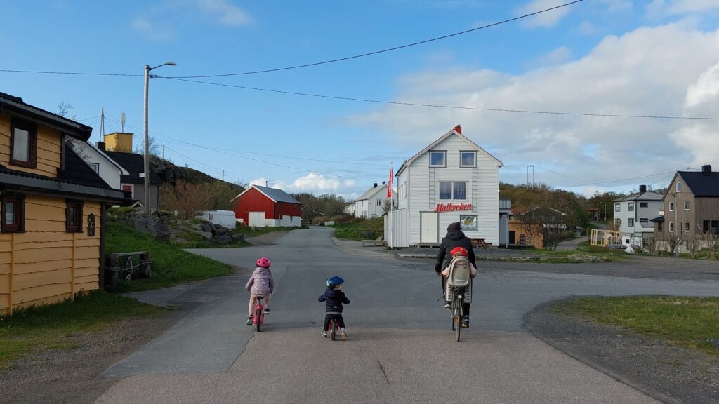
{"type": "Polygon", "coordinates": [[[396,174],[398,209],[385,216],[388,246],[437,245],[455,221],[467,237],[497,246],[500,222],[508,229],[508,215],[500,214],[502,165],[459,125],[406,160],[396,174]]]}

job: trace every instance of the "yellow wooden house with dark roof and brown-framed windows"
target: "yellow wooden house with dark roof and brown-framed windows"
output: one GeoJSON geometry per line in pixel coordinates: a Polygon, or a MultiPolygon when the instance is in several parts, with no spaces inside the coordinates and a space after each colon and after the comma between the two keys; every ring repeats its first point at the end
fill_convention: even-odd
{"type": "Polygon", "coordinates": [[[127,201],[66,144],[92,128],[0,93],[0,315],[103,282],[103,219],[127,201]]]}

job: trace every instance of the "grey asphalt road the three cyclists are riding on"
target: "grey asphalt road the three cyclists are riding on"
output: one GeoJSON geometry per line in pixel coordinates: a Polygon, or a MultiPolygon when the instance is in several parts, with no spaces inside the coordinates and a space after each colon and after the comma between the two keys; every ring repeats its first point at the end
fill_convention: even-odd
{"type": "Polygon", "coordinates": [[[475,280],[471,328],[454,341],[431,263],[339,248],[330,229],[275,245],[196,250],[253,267],[273,261],[265,327],[244,325],[248,273],[138,294],[196,308],[109,367],[97,403],[656,403],[533,338],[524,316],[567,295],[718,295],[718,280],[490,270],[475,280]],[[349,340],[320,336],[324,280],[342,275],[349,340]]]}

